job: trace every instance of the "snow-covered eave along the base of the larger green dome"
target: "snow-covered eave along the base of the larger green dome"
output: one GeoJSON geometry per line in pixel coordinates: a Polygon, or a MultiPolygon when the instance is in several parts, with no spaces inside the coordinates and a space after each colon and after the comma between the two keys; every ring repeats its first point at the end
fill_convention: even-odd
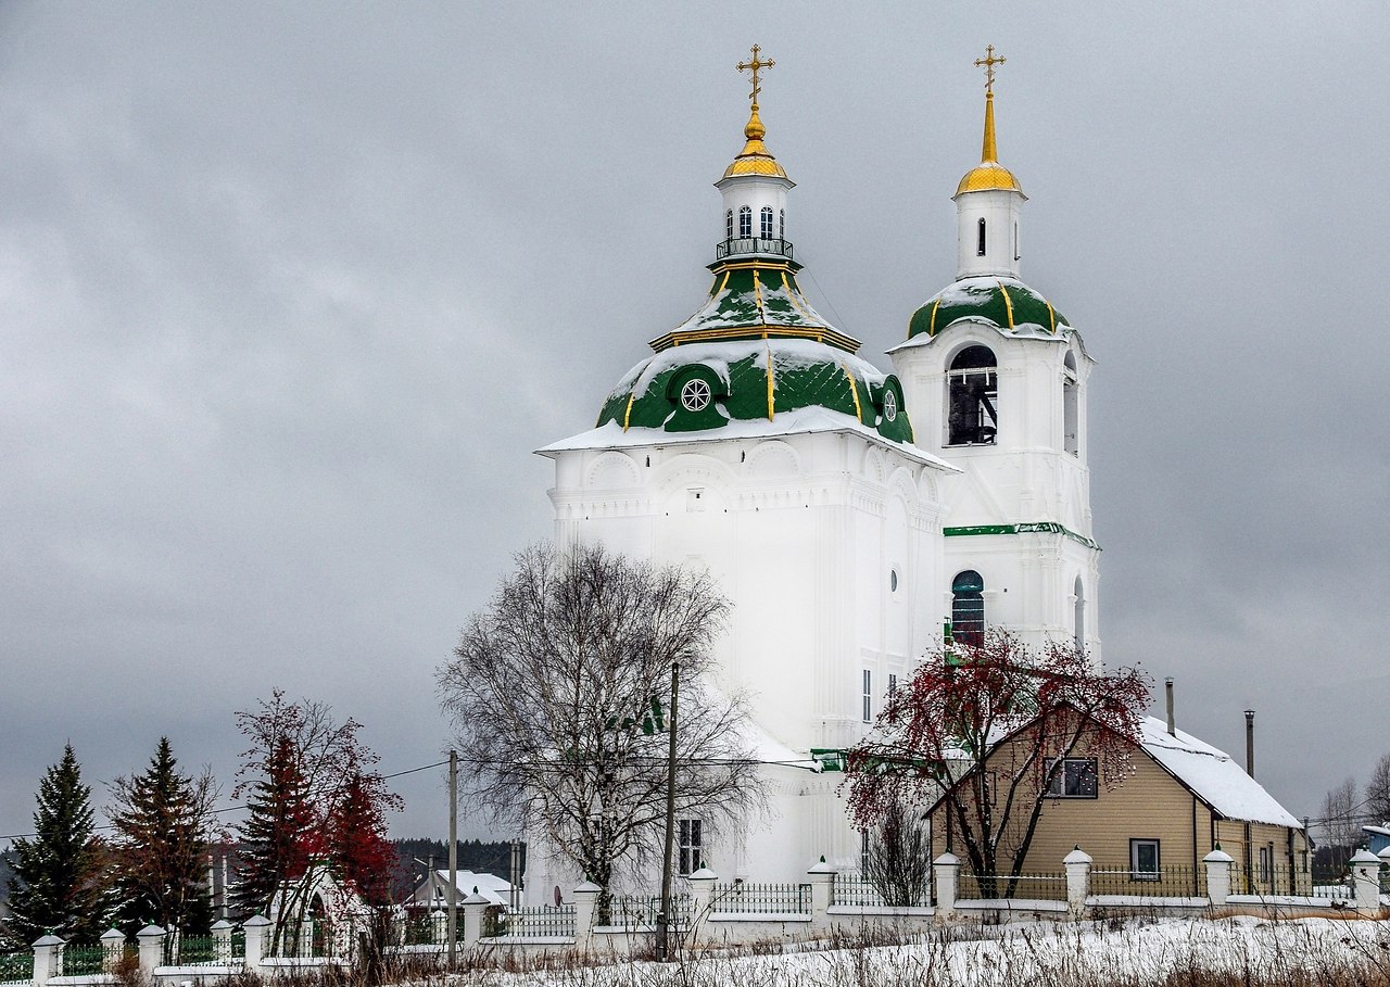
{"type": "Polygon", "coordinates": [[[773,421],[767,418],[731,420],[723,428],[705,432],[664,432],[655,428],[630,428],[624,432],[620,424],[609,421],[587,432],[552,442],[535,452],[541,456],[555,456],[556,453],[571,452],[574,449],[639,449],[644,446],[676,446],[721,439],[766,439],[784,435],[808,435],[812,432],[849,432],[866,438],[884,449],[892,449],[923,466],[959,473],[956,467],[938,456],[923,452],[906,442],[890,442],[873,428],[820,406],[778,411],[773,421]]]}

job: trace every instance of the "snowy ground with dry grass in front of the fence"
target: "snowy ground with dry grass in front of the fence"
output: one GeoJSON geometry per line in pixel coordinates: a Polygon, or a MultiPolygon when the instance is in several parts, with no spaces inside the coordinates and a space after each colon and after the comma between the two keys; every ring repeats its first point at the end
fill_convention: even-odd
{"type": "MultiPolygon", "coordinates": [[[[1375,972],[1369,983],[1390,983],[1390,922],[1371,920],[1027,923],[944,927],[908,945],[831,945],[671,965],[473,972],[467,980],[496,987],[1101,987],[1158,983],[1195,970],[1233,974],[1233,983],[1323,983],[1339,970],[1359,969],[1375,972]]],[[[1343,983],[1368,980],[1352,976],[1343,983]]]]}

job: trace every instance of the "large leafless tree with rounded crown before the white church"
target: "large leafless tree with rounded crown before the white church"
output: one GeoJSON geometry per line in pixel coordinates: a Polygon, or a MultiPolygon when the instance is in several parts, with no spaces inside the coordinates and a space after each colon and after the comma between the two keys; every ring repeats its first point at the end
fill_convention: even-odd
{"type": "Polygon", "coordinates": [[[705,573],[532,546],[436,674],[475,804],[566,855],[600,911],[660,847],[677,662],[677,813],[717,830],[760,804],[744,702],[710,687],[728,609],[705,573]]]}

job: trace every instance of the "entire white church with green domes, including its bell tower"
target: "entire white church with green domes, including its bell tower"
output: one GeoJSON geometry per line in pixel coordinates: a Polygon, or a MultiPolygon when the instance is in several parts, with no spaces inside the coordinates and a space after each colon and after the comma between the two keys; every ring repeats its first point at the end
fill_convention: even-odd
{"type": "MultiPolygon", "coordinates": [[[[858,866],[835,755],[944,619],[958,638],[988,623],[1099,653],[1093,360],[1022,279],[1026,196],[998,161],[997,61],[991,49],[981,63],[981,160],[954,196],[955,279],[906,320],[891,371],[798,285],[795,183],[764,145],[770,63],[755,49],[745,143],[714,182],[709,295],[651,341],[594,428],[539,450],[555,462],[557,544],[705,566],[734,601],[723,685],[751,695],[760,752],[783,763],[764,769],[771,815],[746,833],[681,824],[684,867],[785,881],[820,855],[858,866]]],[[[527,879],[528,902],[574,881],[534,844],[527,879]]]]}

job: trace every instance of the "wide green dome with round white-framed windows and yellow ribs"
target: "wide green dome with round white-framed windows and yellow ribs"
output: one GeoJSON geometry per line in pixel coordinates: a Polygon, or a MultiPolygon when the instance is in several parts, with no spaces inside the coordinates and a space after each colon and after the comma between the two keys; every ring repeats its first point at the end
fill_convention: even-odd
{"type": "Polygon", "coordinates": [[[598,425],[692,432],[731,421],[788,425],[817,409],[852,418],[894,442],[912,425],[895,377],[812,339],[695,342],[663,349],[613,389],[598,425]]]}

